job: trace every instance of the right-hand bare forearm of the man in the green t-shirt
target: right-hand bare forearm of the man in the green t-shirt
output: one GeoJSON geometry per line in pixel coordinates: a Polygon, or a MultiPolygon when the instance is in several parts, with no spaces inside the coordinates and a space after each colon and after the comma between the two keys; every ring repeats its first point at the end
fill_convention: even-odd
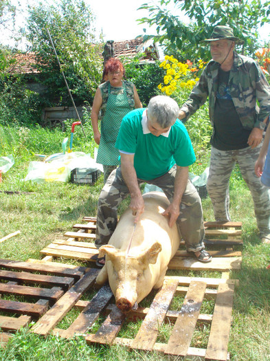
{"type": "Polygon", "coordinates": [[[177,166],[177,173],[175,175],[175,193],[173,195],[172,203],[162,213],[162,215],[170,216],[169,226],[172,227],[180,214],[180,204],[185,187],[188,183],[188,166],[177,166]]]}

